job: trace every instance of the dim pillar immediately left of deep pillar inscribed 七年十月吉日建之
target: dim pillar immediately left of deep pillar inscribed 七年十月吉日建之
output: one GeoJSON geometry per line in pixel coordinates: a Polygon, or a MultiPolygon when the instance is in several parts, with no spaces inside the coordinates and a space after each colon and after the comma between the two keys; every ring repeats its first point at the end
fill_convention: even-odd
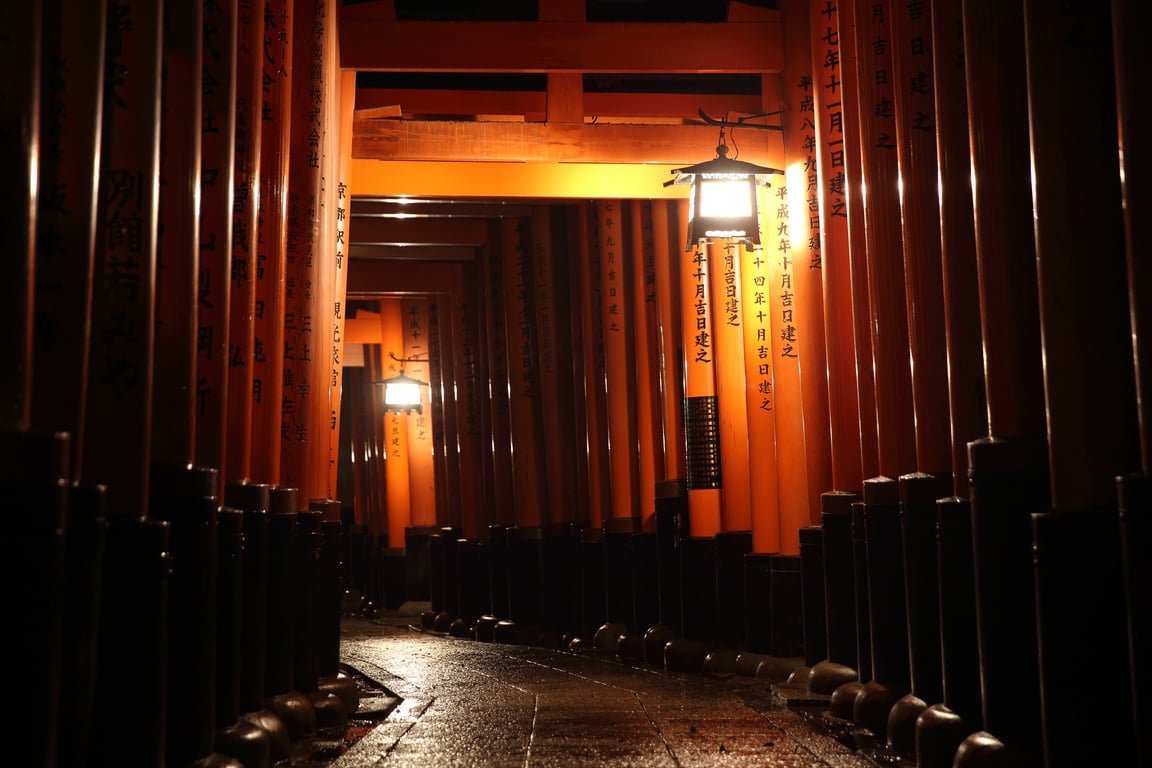
{"type": "Polygon", "coordinates": [[[608,405],[605,393],[604,348],[604,291],[600,275],[602,263],[596,246],[599,229],[591,206],[579,206],[577,213],[579,286],[581,286],[581,351],[584,359],[583,402],[584,428],[588,444],[588,523],[592,529],[604,526],[609,517],[611,470],[608,469],[608,405]]]}

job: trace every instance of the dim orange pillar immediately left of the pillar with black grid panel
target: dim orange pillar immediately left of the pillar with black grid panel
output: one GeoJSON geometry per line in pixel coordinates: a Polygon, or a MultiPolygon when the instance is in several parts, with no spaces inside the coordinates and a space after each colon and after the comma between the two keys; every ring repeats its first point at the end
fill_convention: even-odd
{"type": "Polygon", "coordinates": [[[664,444],[664,479],[684,478],[684,400],[681,344],[683,318],[680,313],[680,259],[683,246],[676,225],[676,203],[652,201],[652,251],[657,292],[657,344],[660,377],[660,423],[664,444]]]}

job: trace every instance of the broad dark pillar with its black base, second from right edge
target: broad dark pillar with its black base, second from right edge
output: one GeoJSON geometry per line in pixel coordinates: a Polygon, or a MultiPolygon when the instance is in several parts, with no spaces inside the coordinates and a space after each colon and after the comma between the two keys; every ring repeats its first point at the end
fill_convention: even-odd
{"type": "Polygon", "coordinates": [[[1058,690],[1097,656],[1101,689],[1132,694],[1116,478],[1140,470],[1139,417],[1116,147],[1109,14],[1024,3],[1052,512],[1033,515],[1040,712],[1049,768],[1091,761],[1073,729],[1109,735],[1137,765],[1135,723],[1077,712],[1058,690]],[[1041,78],[1040,73],[1044,73],[1041,78]],[[1066,88],[1045,86],[1056,77],[1066,88]],[[1066,90],[1067,89],[1067,90],[1066,90]],[[1075,99],[1068,94],[1076,93],[1075,99]],[[1092,115],[1084,120],[1084,115],[1092,115]],[[1069,160],[1075,158],[1069,168],[1069,160]],[[1090,265],[1084,254],[1093,253],[1090,265]],[[1069,560],[1079,568],[1070,572],[1069,560]],[[1090,651],[1076,633],[1093,628],[1090,651]]]}

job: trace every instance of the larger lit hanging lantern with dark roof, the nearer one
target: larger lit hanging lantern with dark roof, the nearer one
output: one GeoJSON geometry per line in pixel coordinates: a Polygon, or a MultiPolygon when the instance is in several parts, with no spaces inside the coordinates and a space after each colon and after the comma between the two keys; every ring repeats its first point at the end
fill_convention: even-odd
{"type": "Polygon", "coordinates": [[[772,174],[783,174],[776,168],[729,158],[723,136],[725,124],[728,123],[720,123],[715,158],[687,168],[675,168],[672,173],[676,177],[664,184],[691,184],[685,251],[691,251],[696,243],[710,237],[732,237],[748,245],[759,245],[760,218],[756,188],[767,184],[772,174]]]}

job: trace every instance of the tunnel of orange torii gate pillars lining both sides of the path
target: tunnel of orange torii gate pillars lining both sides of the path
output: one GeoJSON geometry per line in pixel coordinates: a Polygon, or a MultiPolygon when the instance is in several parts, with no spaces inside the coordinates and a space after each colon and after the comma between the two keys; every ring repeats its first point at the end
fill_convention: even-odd
{"type": "MultiPolygon", "coordinates": [[[[940,700],[939,648],[910,668],[923,638],[905,621],[943,599],[916,590],[933,584],[915,555],[937,552],[939,514],[971,526],[984,728],[1031,742],[1039,676],[1049,739],[1063,715],[1078,733],[1108,717],[1060,699],[1068,675],[1138,699],[1114,610],[1122,583],[1147,583],[1139,558],[1117,573],[1116,510],[1143,531],[1126,512],[1147,510],[1152,470],[1135,6],[938,1],[889,25],[781,2],[788,45],[764,82],[782,131],[736,129],[743,159],[786,170],[760,189],[760,243],[685,250],[675,166],[358,157],[336,3],[289,5],[119,2],[107,28],[96,2],[0,15],[3,482],[38,512],[12,525],[41,542],[14,548],[9,583],[29,587],[14,615],[48,604],[26,576],[93,509],[118,532],[103,610],[127,625],[159,588],[138,578],[167,547],[147,523],[217,496],[244,509],[263,489],[328,523],[350,507],[391,555],[448,529],[446,564],[531,541],[548,578],[569,562],[553,534],[659,537],[672,509],[683,584],[714,586],[682,602],[685,631],[690,607],[727,616],[745,576],[752,594],[790,585],[773,611],[795,600],[823,532],[826,576],[866,562],[873,601],[829,603],[812,618],[828,645],[813,630],[805,649],[940,700]],[[511,215],[469,263],[353,258],[358,200],[404,195],[506,199],[511,215]],[[363,365],[346,365],[356,345],[363,365]],[[385,413],[376,382],[412,358],[423,412],[385,413]],[[846,617],[871,632],[833,647],[846,617]],[[1096,644],[1066,641],[1085,628],[1096,644]]],[[[507,586],[538,592],[537,572],[507,586]]],[[[1146,639],[1130,647],[1135,664],[1146,639]]]]}

